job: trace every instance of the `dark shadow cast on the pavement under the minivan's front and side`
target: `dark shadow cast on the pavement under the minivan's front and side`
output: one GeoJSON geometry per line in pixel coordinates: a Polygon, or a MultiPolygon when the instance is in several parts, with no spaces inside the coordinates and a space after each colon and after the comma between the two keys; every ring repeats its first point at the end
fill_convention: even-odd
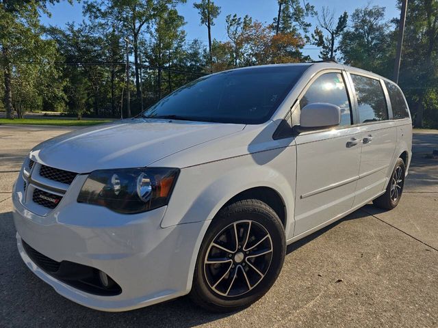
{"type": "MultiPolygon", "coordinates": [[[[330,226],[287,247],[287,254],[318,238],[342,221],[368,216],[357,210],[330,226]]],[[[0,306],[1,327],[194,327],[233,314],[211,314],[194,305],[188,297],[129,312],[99,312],[58,295],[22,262],[16,249],[12,213],[0,214],[0,306]]],[[[244,310],[246,311],[246,310],[244,310]]],[[[250,311],[250,309],[248,309],[250,311]]]]}

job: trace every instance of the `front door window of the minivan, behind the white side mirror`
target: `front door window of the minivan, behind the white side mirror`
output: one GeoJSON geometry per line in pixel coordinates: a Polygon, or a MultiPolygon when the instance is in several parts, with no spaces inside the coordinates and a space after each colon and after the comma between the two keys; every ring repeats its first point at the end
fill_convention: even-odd
{"type": "Polygon", "coordinates": [[[351,125],[350,102],[341,73],[322,74],[313,81],[300,100],[300,107],[313,102],[329,102],[341,108],[341,124],[351,125]]]}

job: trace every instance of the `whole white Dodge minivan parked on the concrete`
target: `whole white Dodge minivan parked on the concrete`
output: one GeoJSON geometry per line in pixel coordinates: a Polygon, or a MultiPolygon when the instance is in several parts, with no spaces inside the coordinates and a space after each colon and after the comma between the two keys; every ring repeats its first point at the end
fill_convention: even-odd
{"type": "Polygon", "coordinates": [[[371,72],[211,74],[136,118],[31,150],[13,189],[18,250],[89,308],[190,294],[239,310],[274,284],[286,245],[368,202],[397,206],[411,139],[400,88],[371,72]]]}

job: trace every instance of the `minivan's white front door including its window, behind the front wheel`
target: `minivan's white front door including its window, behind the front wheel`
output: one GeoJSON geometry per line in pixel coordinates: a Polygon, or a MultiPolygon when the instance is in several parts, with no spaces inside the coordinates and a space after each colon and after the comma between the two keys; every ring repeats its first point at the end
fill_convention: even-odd
{"type": "Polygon", "coordinates": [[[300,108],[329,102],[341,108],[337,128],[296,137],[295,231],[298,236],[352,208],[359,174],[361,133],[351,127],[352,113],[340,70],[320,72],[300,97],[300,108]]]}

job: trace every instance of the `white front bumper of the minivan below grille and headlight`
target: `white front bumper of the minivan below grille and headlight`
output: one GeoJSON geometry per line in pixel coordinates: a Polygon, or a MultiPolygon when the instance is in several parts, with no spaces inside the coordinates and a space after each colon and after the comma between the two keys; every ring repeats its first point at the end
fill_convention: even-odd
{"type": "Polygon", "coordinates": [[[40,216],[12,193],[17,245],[21,258],[60,295],[88,308],[125,311],[185,295],[207,221],[161,228],[166,207],[138,215],[120,215],[107,208],[68,202],[40,216]],[[92,295],[49,275],[29,258],[22,241],[38,252],[99,269],[120,285],[114,296],[92,295]]]}

